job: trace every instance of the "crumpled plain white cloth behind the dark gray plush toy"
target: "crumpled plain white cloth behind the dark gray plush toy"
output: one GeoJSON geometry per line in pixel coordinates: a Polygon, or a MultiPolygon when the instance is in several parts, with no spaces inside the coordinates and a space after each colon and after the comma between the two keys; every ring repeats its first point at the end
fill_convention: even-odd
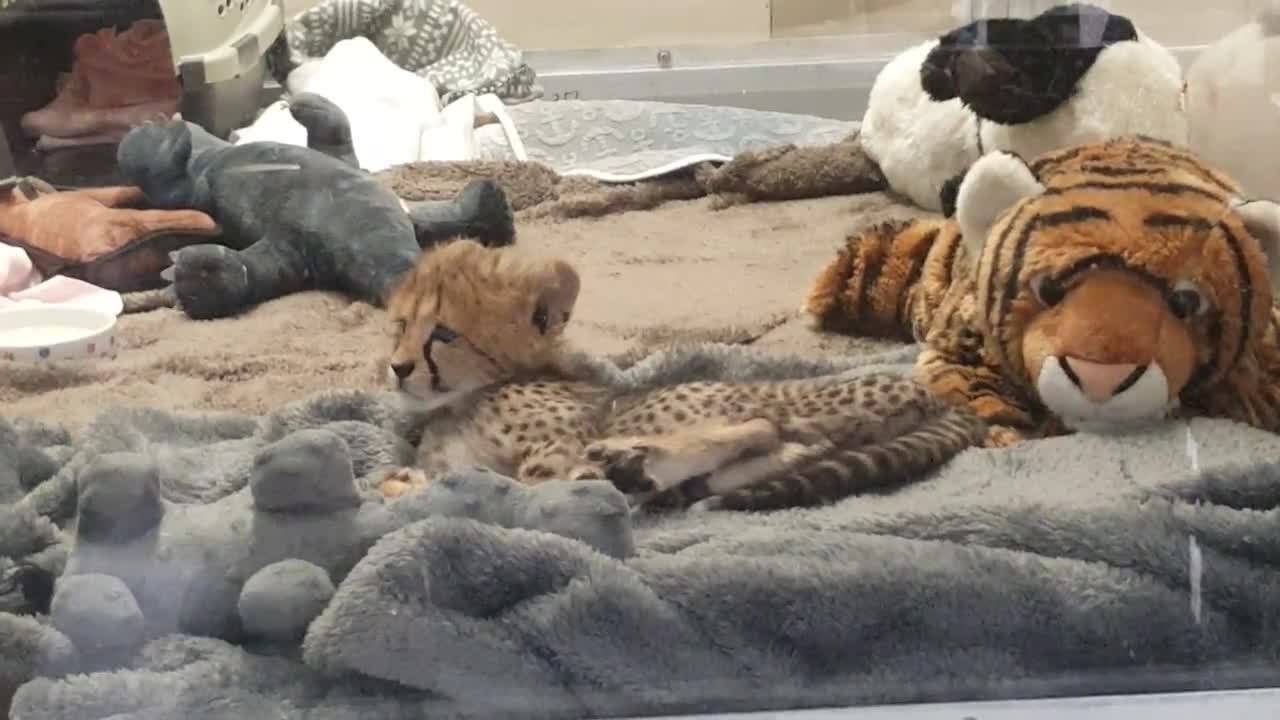
{"type": "MultiPolygon", "coordinates": [[[[320,60],[296,68],[287,86],[291,94],[314,92],[342,108],[351,123],[356,158],[369,172],[419,160],[474,159],[477,113],[495,115],[517,159],[525,159],[515,124],[497,95],[465,95],[442,108],[430,81],[397,67],[364,37],[343,40],[320,60]]],[[[306,129],[280,100],[253,124],[236,131],[232,141],[305,146],[306,129]]]]}

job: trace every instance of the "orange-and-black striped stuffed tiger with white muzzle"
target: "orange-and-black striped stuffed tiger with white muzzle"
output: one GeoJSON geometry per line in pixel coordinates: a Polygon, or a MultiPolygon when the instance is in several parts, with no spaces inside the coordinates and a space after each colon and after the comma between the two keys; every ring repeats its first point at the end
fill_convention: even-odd
{"type": "Polygon", "coordinates": [[[1170,414],[1280,432],[1280,205],[1146,137],[988,154],[943,204],[847,238],[812,324],[923,343],[916,379],[988,446],[1170,414]]]}

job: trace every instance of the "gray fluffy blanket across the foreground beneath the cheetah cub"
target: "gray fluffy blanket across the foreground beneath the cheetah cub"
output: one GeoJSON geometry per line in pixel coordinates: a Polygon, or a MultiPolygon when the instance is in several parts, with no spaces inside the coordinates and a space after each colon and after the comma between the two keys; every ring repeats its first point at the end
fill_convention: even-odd
{"type": "MultiPolygon", "coordinates": [[[[701,347],[602,373],[639,386],[905,370],[910,357],[701,347]]],[[[340,437],[358,487],[407,452],[412,425],[380,395],[334,392],[265,418],[116,411],[79,438],[0,432],[0,460],[45,447],[55,465],[0,466],[0,493],[22,497],[0,510],[0,568],[67,566],[59,594],[73,571],[146,575],[125,579],[137,603],[108,614],[147,639],[123,653],[87,651],[69,601],[55,597],[54,620],[0,615],[0,684],[35,675],[13,716],[581,717],[1185,689],[1251,684],[1280,651],[1280,438],[1231,423],[972,450],[896,492],[769,515],[627,521],[607,493],[538,496],[484,473],[392,514],[351,501],[308,520],[241,500],[252,489],[261,506],[262,468],[296,430],[340,437]],[[216,585],[192,562],[243,584],[246,626],[314,605],[301,643],[218,623],[204,626],[234,644],[197,637],[189,612],[155,610],[168,606],[147,582],[178,582],[163,564],[95,555],[83,534],[68,548],[77,474],[120,451],[152,459],[164,521],[196,538],[159,533],[154,552],[186,557],[188,585],[216,585]],[[210,538],[237,524],[252,537],[228,536],[223,552],[210,538]],[[323,566],[319,589],[251,593],[265,585],[246,575],[276,556],[323,566]],[[276,602],[253,610],[262,597],[276,602]]],[[[273,582],[311,577],[289,568],[273,582]]],[[[104,602],[129,594],[96,582],[104,602]]],[[[218,602],[202,612],[221,618],[218,602]]]]}

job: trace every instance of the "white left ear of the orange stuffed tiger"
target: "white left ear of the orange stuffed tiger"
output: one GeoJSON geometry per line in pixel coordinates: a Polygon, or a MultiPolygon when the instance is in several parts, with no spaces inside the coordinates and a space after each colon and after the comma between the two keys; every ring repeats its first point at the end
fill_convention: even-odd
{"type": "Polygon", "coordinates": [[[955,196],[955,219],[970,260],[982,256],[987,234],[1001,214],[1043,192],[1044,186],[1018,155],[997,151],[979,158],[964,174],[955,196]]]}

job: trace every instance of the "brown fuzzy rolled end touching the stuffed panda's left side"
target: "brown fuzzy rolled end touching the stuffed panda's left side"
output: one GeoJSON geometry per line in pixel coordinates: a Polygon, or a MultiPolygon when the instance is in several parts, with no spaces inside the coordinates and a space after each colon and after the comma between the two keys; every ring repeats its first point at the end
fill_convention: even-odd
{"type": "Polygon", "coordinates": [[[716,170],[705,184],[708,192],[721,196],[721,206],[735,201],[859,195],[888,187],[856,135],[815,147],[780,145],[748,150],[716,170]]]}

